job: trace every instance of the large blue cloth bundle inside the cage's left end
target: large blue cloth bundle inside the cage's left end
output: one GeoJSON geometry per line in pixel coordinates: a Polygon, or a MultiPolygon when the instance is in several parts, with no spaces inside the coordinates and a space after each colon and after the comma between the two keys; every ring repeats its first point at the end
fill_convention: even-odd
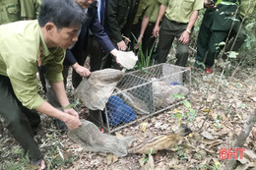
{"type": "Polygon", "coordinates": [[[108,123],[111,126],[128,123],[137,118],[133,109],[125,104],[125,102],[117,95],[109,97],[106,103],[106,110],[108,123]]]}

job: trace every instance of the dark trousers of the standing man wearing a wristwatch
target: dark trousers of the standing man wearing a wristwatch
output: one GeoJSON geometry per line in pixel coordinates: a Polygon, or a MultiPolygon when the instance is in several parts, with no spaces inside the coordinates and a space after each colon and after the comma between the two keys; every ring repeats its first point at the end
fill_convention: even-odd
{"type": "Polygon", "coordinates": [[[175,65],[186,66],[188,60],[188,43],[182,44],[179,42],[179,37],[186,29],[187,24],[178,24],[167,18],[163,18],[160,28],[160,43],[159,43],[159,63],[165,63],[169,49],[174,38],[177,38],[177,52],[175,65]]]}

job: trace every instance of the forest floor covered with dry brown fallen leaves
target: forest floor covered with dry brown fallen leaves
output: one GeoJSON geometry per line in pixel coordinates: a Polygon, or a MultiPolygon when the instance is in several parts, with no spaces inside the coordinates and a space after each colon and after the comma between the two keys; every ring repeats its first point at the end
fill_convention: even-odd
{"type": "MultiPolygon", "coordinates": [[[[155,169],[217,170],[219,166],[224,167],[227,160],[219,159],[220,148],[230,148],[234,144],[244,122],[256,106],[256,69],[255,67],[238,68],[234,75],[231,70],[229,75],[224,76],[220,81],[221,73],[220,68],[216,68],[211,75],[206,75],[202,70],[192,69],[189,102],[197,116],[190,122],[185,118],[181,119],[192,133],[172,150],[162,150],[154,154],[154,162],[151,163],[154,164],[155,169]],[[220,85],[219,91],[218,85],[220,85]]],[[[68,93],[72,98],[70,85],[68,85],[68,93]]],[[[112,135],[134,136],[138,141],[147,141],[169,133],[178,124],[177,118],[173,116],[174,109],[186,112],[187,108],[178,105],[145,120],[144,122],[147,123],[145,132],[141,129],[143,122],[138,122],[112,135]]],[[[34,139],[45,153],[50,169],[137,170],[142,168],[142,159],[147,163],[148,155],[145,154],[115,157],[108,153],[85,151],[80,145],[69,140],[67,132],[57,131],[51,118],[43,115],[41,118],[41,130],[34,139]]],[[[23,156],[23,150],[4,127],[0,129],[0,169],[34,168],[28,165],[28,158],[23,156]]],[[[255,138],[250,134],[246,139],[244,158],[237,161],[237,168],[246,169],[249,165],[256,168],[255,138]]]]}

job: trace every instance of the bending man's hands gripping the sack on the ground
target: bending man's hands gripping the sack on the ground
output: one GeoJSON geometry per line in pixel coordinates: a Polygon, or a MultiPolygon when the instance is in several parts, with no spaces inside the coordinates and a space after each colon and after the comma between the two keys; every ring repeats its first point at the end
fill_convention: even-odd
{"type": "Polygon", "coordinates": [[[81,122],[79,120],[78,112],[76,112],[74,109],[65,109],[65,113],[69,114],[67,121],[64,123],[70,130],[75,130],[79,127],[81,127],[81,122]]]}

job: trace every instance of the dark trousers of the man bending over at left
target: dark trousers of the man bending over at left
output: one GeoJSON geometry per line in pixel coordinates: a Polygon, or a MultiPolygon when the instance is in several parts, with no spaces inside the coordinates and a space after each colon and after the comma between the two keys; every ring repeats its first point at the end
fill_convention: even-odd
{"type": "Polygon", "coordinates": [[[37,143],[33,140],[32,128],[40,123],[37,112],[24,107],[16,97],[10,79],[0,75],[0,114],[14,139],[21,144],[32,160],[42,157],[37,143]]]}

